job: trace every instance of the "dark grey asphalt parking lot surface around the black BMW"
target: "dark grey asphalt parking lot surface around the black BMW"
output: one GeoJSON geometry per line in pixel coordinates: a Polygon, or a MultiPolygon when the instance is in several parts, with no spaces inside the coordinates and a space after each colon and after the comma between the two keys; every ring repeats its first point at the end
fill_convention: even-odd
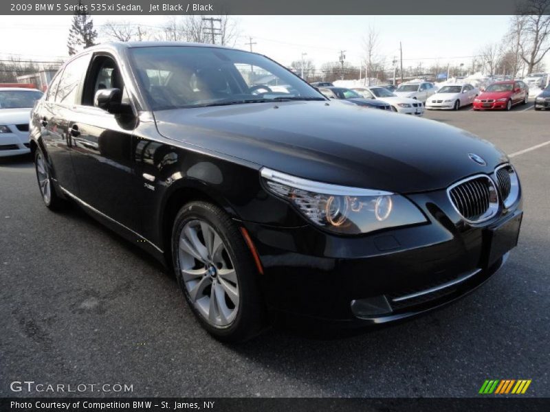
{"type": "Polygon", "coordinates": [[[339,339],[214,341],[162,266],[77,207],[46,209],[28,157],[0,159],[0,396],[55,395],[14,380],[133,385],[91,396],[476,396],[485,379],[550,396],[550,113],[531,106],[425,116],[511,155],[525,217],[507,265],[442,310],[339,339]]]}

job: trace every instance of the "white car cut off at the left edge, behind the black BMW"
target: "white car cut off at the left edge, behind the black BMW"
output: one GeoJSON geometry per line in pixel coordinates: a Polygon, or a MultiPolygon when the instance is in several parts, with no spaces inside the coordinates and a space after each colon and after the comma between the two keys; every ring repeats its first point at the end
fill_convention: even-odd
{"type": "Polygon", "coordinates": [[[0,88],[0,157],[30,153],[30,111],[42,95],[36,89],[0,88]]]}

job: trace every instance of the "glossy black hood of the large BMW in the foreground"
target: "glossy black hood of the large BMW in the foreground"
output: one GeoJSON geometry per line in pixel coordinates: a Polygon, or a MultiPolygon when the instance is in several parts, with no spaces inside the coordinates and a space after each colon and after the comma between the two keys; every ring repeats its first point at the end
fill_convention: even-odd
{"type": "Polygon", "coordinates": [[[305,179],[399,193],[447,187],[507,159],[465,130],[351,104],[255,103],[154,116],[159,133],[183,144],[305,179]]]}

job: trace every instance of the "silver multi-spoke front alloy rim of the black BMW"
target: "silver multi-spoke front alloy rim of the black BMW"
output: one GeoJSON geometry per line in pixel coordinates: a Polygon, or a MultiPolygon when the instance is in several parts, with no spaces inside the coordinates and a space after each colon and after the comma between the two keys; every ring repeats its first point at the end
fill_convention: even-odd
{"type": "Polygon", "coordinates": [[[225,243],[208,222],[190,220],[181,229],[178,267],[201,316],[215,328],[229,326],[239,311],[239,282],[225,243]]]}

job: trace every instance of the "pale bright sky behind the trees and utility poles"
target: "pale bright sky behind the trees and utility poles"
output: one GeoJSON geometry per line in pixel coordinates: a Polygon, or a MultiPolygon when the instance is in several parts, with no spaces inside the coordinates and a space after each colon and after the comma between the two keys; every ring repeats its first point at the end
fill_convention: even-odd
{"type": "MultiPolygon", "coordinates": [[[[131,21],[142,25],[162,25],[165,16],[92,16],[96,28],[106,21],[131,21]]],[[[233,16],[240,36],[235,47],[270,56],[283,65],[305,58],[316,67],[337,61],[340,50],[346,60],[359,66],[363,39],[369,26],[378,32],[378,54],[391,65],[403,45],[404,67],[471,65],[472,56],[488,43],[500,42],[507,32],[509,16],[233,16]]],[[[67,34],[72,16],[3,16],[0,58],[20,54],[34,59],[67,56],[67,34]]],[[[100,30],[98,30],[100,31],[100,30]]],[[[546,66],[550,69],[550,56],[546,66]]]]}

